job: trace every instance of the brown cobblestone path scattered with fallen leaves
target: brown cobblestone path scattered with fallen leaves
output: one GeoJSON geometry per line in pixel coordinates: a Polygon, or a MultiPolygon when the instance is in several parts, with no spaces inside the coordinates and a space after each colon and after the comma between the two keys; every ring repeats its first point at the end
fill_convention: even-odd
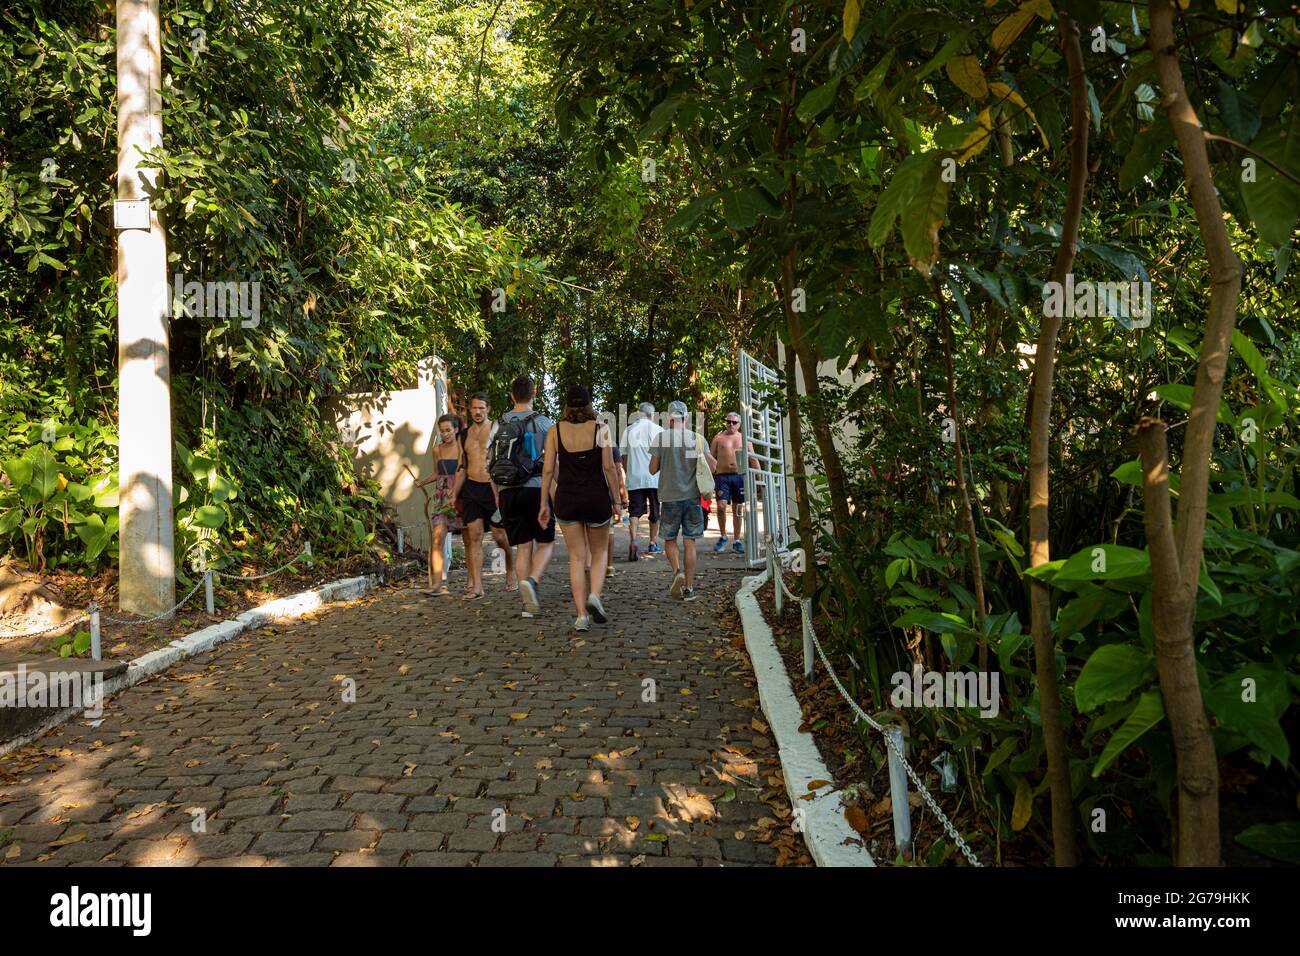
{"type": "Polygon", "coordinates": [[[0,760],[0,865],[771,864],[779,763],[716,623],[741,572],[702,554],[684,604],[619,562],[578,635],[556,549],[534,620],[489,576],[242,635],[0,760]]]}

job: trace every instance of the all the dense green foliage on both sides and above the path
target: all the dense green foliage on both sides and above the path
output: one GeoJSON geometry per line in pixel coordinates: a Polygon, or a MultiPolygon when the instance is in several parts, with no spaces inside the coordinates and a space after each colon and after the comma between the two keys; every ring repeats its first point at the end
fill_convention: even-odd
{"type": "MultiPolygon", "coordinates": [[[[1150,48],[1162,9],[166,5],[151,160],[172,268],[264,289],[255,329],[172,324],[178,553],[211,528],[251,553],[364,548],[377,498],[320,410],[408,384],[430,352],[497,402],[528,371],[543,405],[577,380],[614,410],[685,397],[708,415],[736,402],[740,347],[833,368],[780,399],[820,557],[807,593],[850,691],[927,762],[956,758],[975,849],[1182,858],[1171,704],[1191,701],[1225,853],[1295,861],[1300,25],[1271,0],[1173,5],[1240,260],[1217,350],[1230,282],[1150,48]],[[1080,307],[1044,338],[1062,261],[1149,290],[1152,313],[1080,307]],[[1221,397],[1197,373],[1212,352],[1221,397]],[[1139,444],[1167,425],[1178,494],[1206,408],[1209,486],[1176,502],[1208,515],[1188,696],[1161,671],[1160,470],[1139,444]],[[893,708],[914,666],[996,671],[1000,714],[893,708]]],[[[12,0],[0,21],[0,540],[94,571],[117,546],[113,22],[86,0],[12,0]]]]}

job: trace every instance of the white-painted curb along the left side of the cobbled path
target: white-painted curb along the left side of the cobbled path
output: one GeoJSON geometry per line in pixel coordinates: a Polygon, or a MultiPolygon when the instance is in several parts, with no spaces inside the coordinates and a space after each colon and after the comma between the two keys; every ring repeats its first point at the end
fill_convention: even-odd
{"type": "MultiPolygon", "coordinates": [[[[104,698],[108,700],[114,693],[121,693],[126,688],[140,683],[144,678],[165,671],[178,661],[212,650],[218,644],[225,644],[231,637],[237,637],[250,628],[261,627],[263,624],[269,624],[273,620],[292,620],[294,618],[300,618],[304,614],[329,604],[330,601],[351,601],[361,597],[374,587],[374,575],[342,578],[337,581],[322,584],[318,588],[312,588],[311,591],[289,594],[286,597],[276,598],[274,601],[268,601],[257,607],[251,607],[242,614],[237,614],[233,620],[222,620],[220,624],[212,624],[211,627],[205,627],[200,631],[192,631],[185,637],[176,639],[164,648],[159,648],[157,650],[151,650],[147,654],[136,657],[126,666],[125,674],[121,674],[112,680],[105,680],[104,698]]],[[[82,713],[84,711],[81,708],[61,710],[26,734],[0,741],[0,757],[39,740],[48,731],[61,723],[66,723],[82,713]]]]}

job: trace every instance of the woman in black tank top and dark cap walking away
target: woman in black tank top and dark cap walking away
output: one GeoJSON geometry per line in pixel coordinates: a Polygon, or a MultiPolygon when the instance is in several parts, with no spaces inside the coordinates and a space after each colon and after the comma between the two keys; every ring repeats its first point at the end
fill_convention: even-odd
{"type": "Polygon", "coordinates": [[[586,631],[594,619],[603,624],[608,615],[601,602],[608,562],[611,520],[620,514],[611,488],[618,488],[610,429],[595,418],[592,397],[575,385],[568,390],[564,415],[546,441],[542,466],[542,507],[537,520],[545,528],[555,522],[564,535],[569,559],[569,591],[577,617],[576,631],[586,631]],[[586,564],[592,571],[588,578],[586,564]]]}

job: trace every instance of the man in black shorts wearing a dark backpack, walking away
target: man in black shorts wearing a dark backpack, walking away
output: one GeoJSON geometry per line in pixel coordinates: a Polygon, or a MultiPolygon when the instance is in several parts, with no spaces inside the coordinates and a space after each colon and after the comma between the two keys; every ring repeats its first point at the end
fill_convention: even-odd
{"type": "Polygon", "coordinates": [[[542,460],[546,433],[555,423],[533,411],[533,380],[520,376],[510,385],[515,407],[497,421],[489,472],[500,506],[500,524],[515,548],[515,574],[524,598],[524,617],[542,609],[537,583],[555,548],[555,519],[543,528],[537,523],[542,507],[542,460]]]}

